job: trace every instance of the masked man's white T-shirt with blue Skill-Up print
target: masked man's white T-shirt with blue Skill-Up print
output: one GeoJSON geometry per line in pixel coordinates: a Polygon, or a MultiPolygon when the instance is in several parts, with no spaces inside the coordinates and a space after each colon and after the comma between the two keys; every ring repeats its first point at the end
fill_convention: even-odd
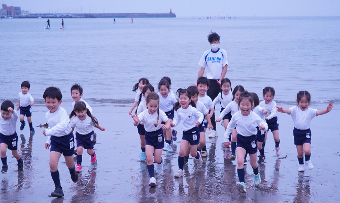
{"type": "Polygon", "coordinates": [[[227,52],[220,48],[215,53],[211,49],[204,52],[198,63],[204,68],[208,66],[207,78],[214,80],[221,78],[223,67],[226,64],[228,64],[227,52]]]}

